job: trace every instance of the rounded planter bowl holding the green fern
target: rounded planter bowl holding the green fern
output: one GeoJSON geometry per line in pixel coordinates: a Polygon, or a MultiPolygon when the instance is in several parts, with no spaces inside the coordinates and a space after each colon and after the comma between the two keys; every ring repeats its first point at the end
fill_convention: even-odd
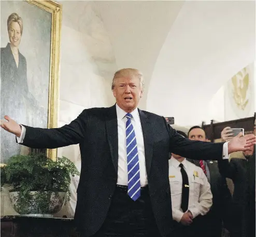
{"type": "Polygon", "coordinates": [[[18,201],[19,192],[9,192],[11,204],[16,212],[26,216],[52,217],[59,212],[66,200],[67,193],[31,191],[29,199],[18,201]]]}

